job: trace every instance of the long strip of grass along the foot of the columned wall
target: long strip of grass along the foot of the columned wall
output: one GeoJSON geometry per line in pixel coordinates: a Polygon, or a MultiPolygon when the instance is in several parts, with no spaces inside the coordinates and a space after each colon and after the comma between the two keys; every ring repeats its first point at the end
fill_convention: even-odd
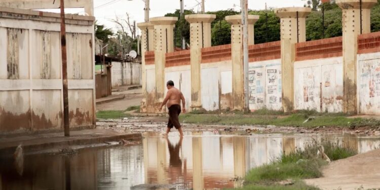
{"type": "Polygon", "coordinates": [[[180,116],[180,121],[192,124],[219,124],[219,125],[276,125],[276,126],[302,126],[302,127],[352,127],[354,126],[378,126],[377,120],[367,121],[361,118],[347,118],[345,116],[307,115],[305,113],[293,113],[289,116],[273,115],[201,115],[188,113],[180,116]],[[313,120],[303,123],[310,116],[313,120]]]}

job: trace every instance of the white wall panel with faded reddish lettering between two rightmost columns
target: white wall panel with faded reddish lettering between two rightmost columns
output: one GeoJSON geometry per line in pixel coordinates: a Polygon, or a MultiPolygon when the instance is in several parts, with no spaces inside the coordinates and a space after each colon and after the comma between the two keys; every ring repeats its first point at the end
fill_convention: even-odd
{"type": "Polygon", "coordinates": [[[294,63],[295,109],[343,111],[343,58],[294,63]]]}

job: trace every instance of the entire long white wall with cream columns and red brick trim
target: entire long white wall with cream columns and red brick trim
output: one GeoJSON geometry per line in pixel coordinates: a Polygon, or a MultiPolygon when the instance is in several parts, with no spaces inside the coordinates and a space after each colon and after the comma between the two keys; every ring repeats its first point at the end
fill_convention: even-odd
{"type": "MultiPolygon", "coordinates": [[[[323,40],[306,42],[305,18],[311,12],[309,8],[274,10],[280,17],[281,41],[278,42],[253,44],[252,29],[258,17],[249,17],[250,110],[380,114],[380,32],[368,33],[368,15],[362,22],[356,18],[360,10],[357,1],[337,0],[336,3],[343,9],[343,36],[323,40]]],[[[363,14],[369,14],[375,3],[375,0],[363,1],[362,9],[366,9],[363,14]]],[[[242,110],[241,16],[225,18],[232,24],[231,44],[215,47],[205,46],[210,36],[207,24],[213,20],[212,15],[189,15],[186,19],[191,24],[190,50],[166,52],[164,73],[157,68],[163,64],[162,58],[155,60],[157,52],[162,54],[162,50],[156,51],[162,42],[157,35],[152,36],[155,51],[147,51],[142,64],[146,82],[142,85],[145,94],[141,111],[156,112],[155,107],[163,99],[157,90],[157,78],[164,79],[160,88],[168,80],[178,84],[189,110],[242,110]]],[[[149,26],[149,23],[142,25],[149,26]]],[[[144,34],[148,36],[149,27],[146,29],[144,34]]]]}

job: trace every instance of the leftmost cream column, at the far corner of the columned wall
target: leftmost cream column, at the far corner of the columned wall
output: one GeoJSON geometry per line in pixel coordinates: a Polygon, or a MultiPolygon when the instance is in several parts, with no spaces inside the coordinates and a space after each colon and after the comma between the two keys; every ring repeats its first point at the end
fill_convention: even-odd
{"type": "Polygon", "coordinates": [[[152,39],[153,42],[153,30],[154,27],[150,22],[137,23],[137,27],[141,30],[141,87],[142,87],[142,100],[140,111],[146,112],[146,69],[145,69],[145,52],[153,50],[153,43],[150,44],[149,41],[152,39]],[[149,31],[152,31],[149,33],[149,31]]]}

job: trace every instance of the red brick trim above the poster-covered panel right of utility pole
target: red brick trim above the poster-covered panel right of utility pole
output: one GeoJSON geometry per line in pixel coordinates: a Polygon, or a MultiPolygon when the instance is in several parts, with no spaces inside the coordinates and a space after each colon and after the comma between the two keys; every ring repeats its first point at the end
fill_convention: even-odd
{"type": "Polygon", "coordinates": [[[248,47],[249,62],[281,58],[281,41],[255,44],[248,47]]]}

